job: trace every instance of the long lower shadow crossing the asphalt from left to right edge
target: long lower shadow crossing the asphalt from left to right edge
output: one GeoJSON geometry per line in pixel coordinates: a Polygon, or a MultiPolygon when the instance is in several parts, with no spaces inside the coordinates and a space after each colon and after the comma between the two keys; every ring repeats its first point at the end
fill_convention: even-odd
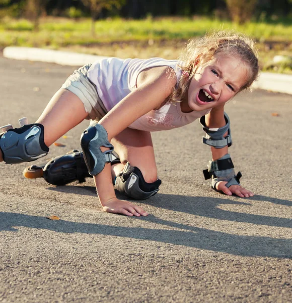
{"type": "MultiPolygon", "coordinates": [[[[114,216],[114,215],[113,215],[114,216]]],[[[125,218],[135,220],[134,218],[125,218]]],[[[17,232],[16,227],[46,229],[58,233],[113,235],[141,240],[183,245],[249,257],[292,258],[292,240],[264,236],[242,236],[198,228],[163,220],[152,215],[136,220],[149,221],[182,230],[123,227],[70,221],[51,221],[45,217],[0,212],[0,231],[17,232]]],[[[194,221],[195,222],[195,221],[194,221]]]]}

